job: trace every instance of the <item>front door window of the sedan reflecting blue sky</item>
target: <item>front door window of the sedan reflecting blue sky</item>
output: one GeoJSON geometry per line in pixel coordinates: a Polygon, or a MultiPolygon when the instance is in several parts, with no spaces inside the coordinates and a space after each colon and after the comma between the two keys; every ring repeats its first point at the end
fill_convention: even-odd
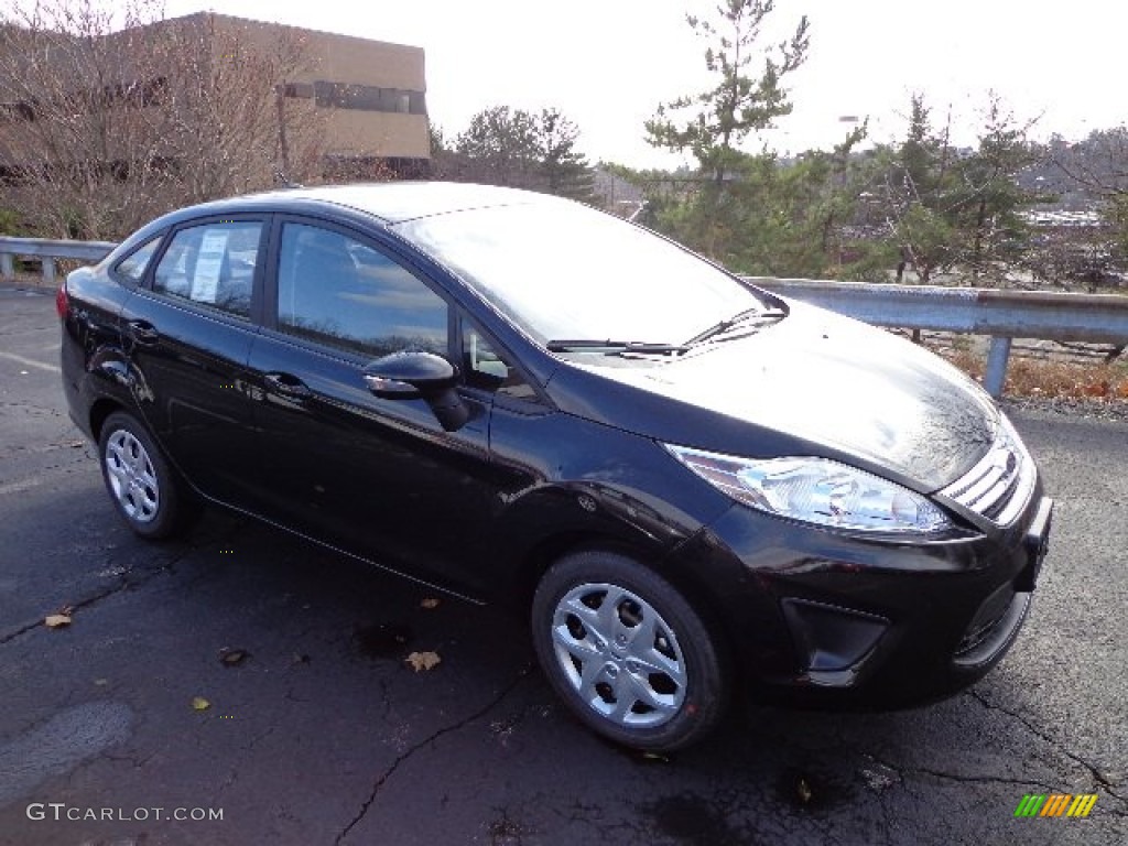
{"type": "Polygon", "coordinates": [[[447,301],[382,253],[340,232],[282,227],[279,329],[379,358],[447,353],[447,301]]]}

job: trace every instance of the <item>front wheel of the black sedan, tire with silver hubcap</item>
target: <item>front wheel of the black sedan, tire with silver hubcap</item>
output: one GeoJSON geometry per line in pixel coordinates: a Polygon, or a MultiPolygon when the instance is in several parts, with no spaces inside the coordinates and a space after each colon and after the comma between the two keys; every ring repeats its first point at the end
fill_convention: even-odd
{"type": "Polygon", "coordinates": [[[561,698],[616,743],[681,749],[728,706],[729,672],[705,620],[626,556],[582,552],[554,564],[532,600],[532,641],[561,698]]]}

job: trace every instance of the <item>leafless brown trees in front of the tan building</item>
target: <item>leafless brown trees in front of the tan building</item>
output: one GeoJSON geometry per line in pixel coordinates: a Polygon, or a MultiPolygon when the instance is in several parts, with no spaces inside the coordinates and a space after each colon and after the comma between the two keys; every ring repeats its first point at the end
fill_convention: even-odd
{"type": "Polygon", "coordinates": [[[312,103],[280,103],[307,65],[291,30],[164,20],[156,0],[0,15],[0,205],[37,233],[118,238],[168,209],[267,187],[279,169],[317,173],[312,103]]]}

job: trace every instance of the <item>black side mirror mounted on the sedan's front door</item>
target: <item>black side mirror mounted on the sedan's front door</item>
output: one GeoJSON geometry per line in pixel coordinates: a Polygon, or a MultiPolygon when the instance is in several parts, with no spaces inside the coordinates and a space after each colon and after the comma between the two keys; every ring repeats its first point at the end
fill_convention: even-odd
{"type": "Polygon", "coordinates": [[[364,368],[364,384],[381,399],[426,402],[448,432],[461,429],[470,409],[458,396],[458,370],[441,355],[405,351],[385,355],[364,368]]]}

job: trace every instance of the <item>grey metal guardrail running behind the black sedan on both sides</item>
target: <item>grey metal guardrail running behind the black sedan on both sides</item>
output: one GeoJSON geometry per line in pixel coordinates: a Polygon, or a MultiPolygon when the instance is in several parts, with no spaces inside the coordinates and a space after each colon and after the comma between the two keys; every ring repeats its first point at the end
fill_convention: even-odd
{"type": "MultiPolygon", "coordinates": [[[[43,263],[43,279],[53,282],[56,258],[98,262],[115,246],[112,241],[0,237],[0,274],[5,279],[12,277],[16,256],[36,257],[43,263]]],[[[1128,344],[1128,297],[765,276],[743,279],[784,297],[875,326],[989,335],[984,386],[993,397],[1003,394],[1012,338],[1128,344]]]]}

